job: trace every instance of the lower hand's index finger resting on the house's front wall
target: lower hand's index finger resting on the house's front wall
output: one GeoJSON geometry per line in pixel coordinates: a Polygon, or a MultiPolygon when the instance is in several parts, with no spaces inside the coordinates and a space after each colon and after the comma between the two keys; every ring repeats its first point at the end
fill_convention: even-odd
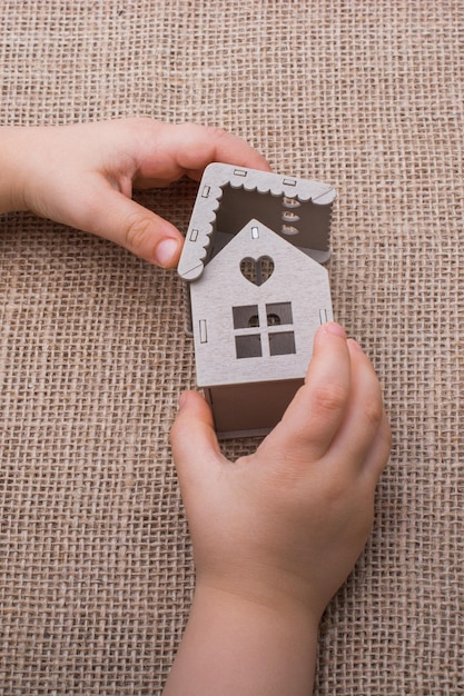
{"type": "Polygon", "coordinates": [[[308,461],[323,457],[345,417],[351,384],[345,331],[337,324],[325,324],[314,340],[305,385],[260,448],[277,447],[286,459],[308,461]]]}

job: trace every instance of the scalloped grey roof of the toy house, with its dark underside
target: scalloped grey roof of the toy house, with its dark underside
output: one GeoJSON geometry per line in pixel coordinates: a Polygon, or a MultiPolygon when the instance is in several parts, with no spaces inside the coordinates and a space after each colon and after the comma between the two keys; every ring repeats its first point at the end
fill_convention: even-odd
{"type": "Polygon", "coordinates": [[[325,261],[335,197],[335,189],[320,181],[209,165],[199,186],[178,272],[185,280],[199,278],[213,255],[215,237],[223,235],[227,241],[251,218],[259,218],[293,246],[325,261]]]}

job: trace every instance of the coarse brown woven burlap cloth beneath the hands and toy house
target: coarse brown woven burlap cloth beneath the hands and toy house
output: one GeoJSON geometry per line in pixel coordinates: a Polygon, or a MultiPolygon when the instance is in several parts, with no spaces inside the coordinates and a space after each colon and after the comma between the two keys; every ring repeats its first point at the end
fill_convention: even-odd
{"type": "MultiPolygon", "coordinates": [[[[315,693],[464,694],[462,0],[3,0],[0,28],[2,125],[217,125],[336,187],[335,316],[394,446],[315,693]]],[[[195,195],[137,198],[185,230],[195,195]]],[[[160,694],[195,580],[180,284],[28,213],[0,226],[0,694],[160,694]]]]}

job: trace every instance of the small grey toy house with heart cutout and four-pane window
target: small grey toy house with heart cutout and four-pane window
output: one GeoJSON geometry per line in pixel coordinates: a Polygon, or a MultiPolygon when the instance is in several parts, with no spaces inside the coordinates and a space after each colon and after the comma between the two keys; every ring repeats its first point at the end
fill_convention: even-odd
{"type": "Polygon", "coordinates": [[[205,170],[178,272],[219,437],[268,432],[304,382],[314,334],[332,320],[322,264],[334,199],[318,181],[205,170]]]}

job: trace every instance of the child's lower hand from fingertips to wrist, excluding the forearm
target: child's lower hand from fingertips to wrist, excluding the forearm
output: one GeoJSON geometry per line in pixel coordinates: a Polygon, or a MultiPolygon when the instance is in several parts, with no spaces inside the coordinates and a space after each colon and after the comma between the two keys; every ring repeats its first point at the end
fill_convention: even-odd
{"type": "Polygon", "coordinates": [[[187,392],[174,457],[197,584],[318,622],[373,521],[391,436],[374,369],[336,324],[315,339],[306,384],[257,451],[226,460],[208,406],[187,392]]]}

